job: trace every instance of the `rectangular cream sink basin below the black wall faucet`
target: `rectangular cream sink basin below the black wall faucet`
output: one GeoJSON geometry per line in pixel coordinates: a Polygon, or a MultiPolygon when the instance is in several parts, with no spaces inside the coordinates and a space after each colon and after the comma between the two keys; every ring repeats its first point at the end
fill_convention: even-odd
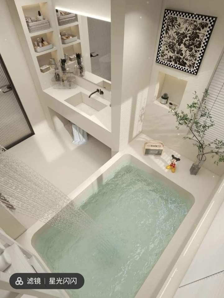
{"type": "Polygon", "coordinates": [[[75,106],[78,110],[86,113],[89,116],[101,111],[106,105],[93,97],[88,97],[87,94],[79,92],[76,95],[65,100],[70,105],[75,106]]]}

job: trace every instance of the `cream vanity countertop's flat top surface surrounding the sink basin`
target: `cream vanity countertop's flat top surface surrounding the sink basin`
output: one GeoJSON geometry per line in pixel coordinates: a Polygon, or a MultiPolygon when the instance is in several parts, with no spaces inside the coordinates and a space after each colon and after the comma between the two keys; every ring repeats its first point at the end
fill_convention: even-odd
{"type": "Polygon", "coordinates": [[[77,86],[76,88],[71,89],[55,89],[53,87],[49,87],[44,90],[44,92],[51,97],[53,97],[55,100],[62,102],[64,105],[68,106],[73,111],[78,112],[82,116],[85,116],[90,121],[93,121],[94,123],[100,125],[104,129],[111,132],[111,108],[110,108],[110,102],[106,99],[100,97],[100,95],[93,94],[91,98],[94,98],[98,100],[99,102],[102,102],[106,105],[105,108],[103,108],[100,111],[97,111],[94,115],[90,116],[86,114],[85,112],[80,111],[75,106],[72,106],[65,100],[78,94],[79,92],[85,93],[89,96],[90,92],[82,87],[77,86]]]}

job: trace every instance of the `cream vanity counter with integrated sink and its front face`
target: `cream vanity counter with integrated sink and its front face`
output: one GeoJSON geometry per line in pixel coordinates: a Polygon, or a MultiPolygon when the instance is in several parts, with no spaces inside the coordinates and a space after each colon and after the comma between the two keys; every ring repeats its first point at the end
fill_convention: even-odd
{"type": "Polygon", "coordinates": [[[99,93],[89,98],[91,92],[80,86],[71,89],[50,87],[43,91],[49,108],[111,146],[111,107],[108,100],[99,93]]]}

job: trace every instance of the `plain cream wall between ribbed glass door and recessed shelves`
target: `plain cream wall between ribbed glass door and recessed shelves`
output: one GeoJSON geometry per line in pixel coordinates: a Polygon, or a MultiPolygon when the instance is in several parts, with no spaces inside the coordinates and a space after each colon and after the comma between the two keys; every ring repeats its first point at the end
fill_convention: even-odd
{"type": "Polygon", "coordinates": [[[45,116],[6,0],[1,1],[0,53],[31,125],[36,131],[38,125],[45,121],[45,116]]]}

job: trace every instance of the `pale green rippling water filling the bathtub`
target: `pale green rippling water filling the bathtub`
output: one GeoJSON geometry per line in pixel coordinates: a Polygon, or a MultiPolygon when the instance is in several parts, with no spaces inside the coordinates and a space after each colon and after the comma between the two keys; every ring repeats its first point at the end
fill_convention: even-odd
{"type": "MultiPolygon", "coordinates": [[[[160,176],[124,165],[82,201],[82,210],[103,236],[81,229],[75,237],[51,225],[34,235],[32,245],[52,272],[84,276],[84,286],[68,291],[69,296],[135,297],[193,205],[187,194],[160,176]]],[[[74,220],[72,228],[79,226],[74,220]]]]}

